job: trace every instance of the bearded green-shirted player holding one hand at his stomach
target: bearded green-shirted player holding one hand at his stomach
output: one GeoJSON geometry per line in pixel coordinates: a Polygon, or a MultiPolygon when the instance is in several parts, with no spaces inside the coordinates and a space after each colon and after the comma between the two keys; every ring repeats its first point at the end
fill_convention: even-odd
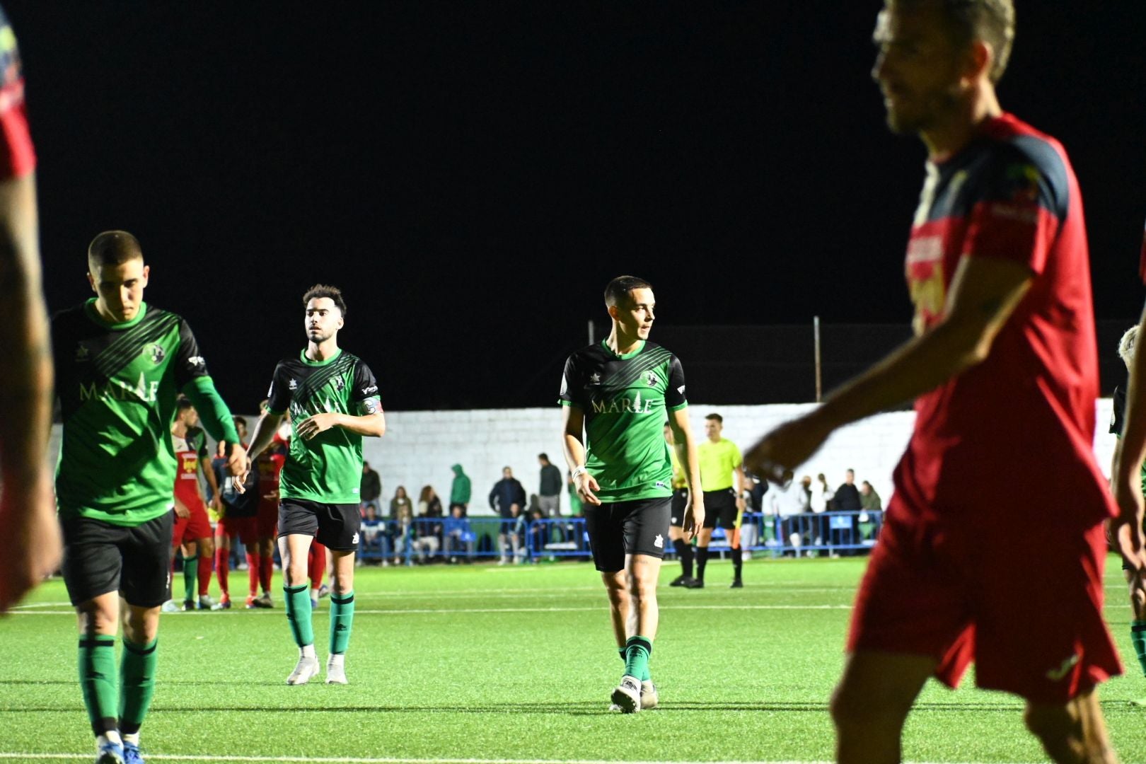
{"type": "MultiPolygon", "coordinates": [[[[275,368],[267,408],[251,434],[250,457],[257,457],[270,443],[290,410],[293,436],[280,483],[278,551],[286,619],[299,657],[286,684],[306,684],[319,672],[307,591],[307,552],[315,539],[330,551],[333,562],[327,684],[346,684],[344,661],[354,620],[362,438],[380,438],[386,432],[386,419],[374,373],[356,355],[338,347],[338,330],[346,316],[342,292],[316,284],[303,296],[303,305],[306,349],[275,368]]],[[[235,487],[242,490],[238,483],[236,478],[235,487]]]]}

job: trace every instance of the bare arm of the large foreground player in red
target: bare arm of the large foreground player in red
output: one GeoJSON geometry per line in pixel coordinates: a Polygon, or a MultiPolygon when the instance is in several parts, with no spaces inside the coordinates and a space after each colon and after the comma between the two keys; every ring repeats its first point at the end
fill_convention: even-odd
{"type": "Polygon", "coordinates": [[[807,462],[838,427],[913,399],[982,363],[998,332],[1030,289],[1025,265],[964,258],[951,279],[947,313],[824,404],[766,435],[745,455],[745,467],[777,480],[807,462]]]}

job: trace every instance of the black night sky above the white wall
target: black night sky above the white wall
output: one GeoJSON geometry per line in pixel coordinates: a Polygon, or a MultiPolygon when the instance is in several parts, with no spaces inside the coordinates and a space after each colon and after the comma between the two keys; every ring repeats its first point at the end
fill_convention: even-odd
{"type": "MultiPolygon", "coordinates": [[[[315,282],[392,410],[552,404],[622,273],[697,401],[810,400],[815,315],[892,324],[838,328],[829,387],[906,336],[925,155],[869,78],[877,0],[3,5],[49,308],[89,294],[96,233],[134,233],[236,410],[315,282]]],[[[999,89],[1073,158],[1106,393],[1143,302],[1141,30],[1135,2],[1020,2],[999,89]]]]}

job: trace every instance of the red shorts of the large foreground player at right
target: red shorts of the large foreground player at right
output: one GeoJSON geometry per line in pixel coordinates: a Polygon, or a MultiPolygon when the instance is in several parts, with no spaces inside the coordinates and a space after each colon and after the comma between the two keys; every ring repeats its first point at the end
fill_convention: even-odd
{"type": "Polygon", "coordinates": [[[1062,703],[1122,672],[1102,621],[1101,523],[936,520],[892,498],[856,596],[848,652],[929,655],[956,687],[1062,703]]]}

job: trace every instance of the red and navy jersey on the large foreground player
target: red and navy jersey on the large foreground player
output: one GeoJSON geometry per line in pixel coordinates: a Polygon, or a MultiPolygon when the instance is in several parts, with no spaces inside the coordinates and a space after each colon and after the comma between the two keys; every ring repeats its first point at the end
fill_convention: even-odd
{"type": "Polygon", "coordinates": [[[1098,351],[1082,196],[1066,151],[1011,115],[927,166],[908,244],[915,328],[942,318],[964,258],[1026,266],[1031,285],[986,361],[916,402],[896,491],[937,515],[1113,512],[1094,460],[1098,351]]]}

